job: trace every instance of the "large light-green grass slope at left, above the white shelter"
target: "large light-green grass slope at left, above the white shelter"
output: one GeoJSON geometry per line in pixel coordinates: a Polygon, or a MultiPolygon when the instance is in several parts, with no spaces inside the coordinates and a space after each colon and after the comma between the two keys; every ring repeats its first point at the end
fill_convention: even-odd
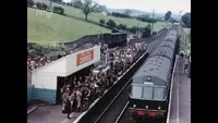
{"type": "Polygon", "coordinates": [[[37,15],[27,9],[27,39],[31,42],[60,42],[75,40],[85,35],[109,33],[108,28],[52,13],[50,17],[37,15]]]}

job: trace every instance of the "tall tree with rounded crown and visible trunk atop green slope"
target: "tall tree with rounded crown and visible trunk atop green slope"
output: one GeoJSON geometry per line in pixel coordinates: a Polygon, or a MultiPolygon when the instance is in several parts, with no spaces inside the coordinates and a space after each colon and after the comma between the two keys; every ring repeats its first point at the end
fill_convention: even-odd
{"type": "Polygon", "coordinates": [[[83,0],[83,5],[82,5],[82,10],[83,13],[85,14],[85,20],[87,21],[87,16],[90,12],[95,11],[97,3],[94,2],[93,0],[83,0]]]}

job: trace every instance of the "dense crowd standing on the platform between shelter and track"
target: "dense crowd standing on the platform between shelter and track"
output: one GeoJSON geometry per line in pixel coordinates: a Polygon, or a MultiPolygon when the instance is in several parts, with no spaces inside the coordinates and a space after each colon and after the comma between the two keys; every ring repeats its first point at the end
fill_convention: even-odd
{"type": "MultiPolygon", "coordinates": [[[[101,48],[101,57],[105,57],[107,48],[101,48]]],[[[86,110],[90,103],[101,97],[104,91],[111,87],[118,77],[120,77],[146,50],[143,44],[134,44],[130,48],[116,50],[109,53],[109,71],[102,71],[94,74],[94,67],[89,69],[87,74],[82,76],[72,76],[65,81],[61,88],[62,111],[70,113],[72,111],[81,112],[86,110]]],[[[101,59],[104,60],[104,59],[101,59]]]]}

